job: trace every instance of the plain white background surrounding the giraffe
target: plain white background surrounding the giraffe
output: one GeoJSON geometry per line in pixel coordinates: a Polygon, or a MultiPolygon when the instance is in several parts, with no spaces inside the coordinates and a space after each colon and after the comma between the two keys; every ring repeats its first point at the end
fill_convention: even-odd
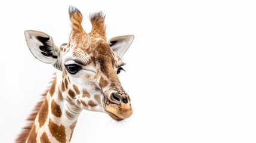
{"type": "Polygon", "coordinates": [[[254,1],[0,0],[0,142],[14,142],[54,67],[24,30],[67,42],[69,5],[106,14],[108,38],[135,35],[119,74],[134,114],[117,123],[83,111],[72,142],[256,142],[254,1]]]}

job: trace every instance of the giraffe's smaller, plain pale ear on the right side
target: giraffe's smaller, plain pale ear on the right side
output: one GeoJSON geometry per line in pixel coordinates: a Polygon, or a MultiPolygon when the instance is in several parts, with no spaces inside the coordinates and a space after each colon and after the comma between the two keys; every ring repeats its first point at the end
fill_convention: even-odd
{"type": "Polygon", "coordinates": [[[119,58],[122,58],[129,46],[131,46],[133,39],[133,35],[117,36],[109,39],[109,46],[118,54],[119,58]]]}

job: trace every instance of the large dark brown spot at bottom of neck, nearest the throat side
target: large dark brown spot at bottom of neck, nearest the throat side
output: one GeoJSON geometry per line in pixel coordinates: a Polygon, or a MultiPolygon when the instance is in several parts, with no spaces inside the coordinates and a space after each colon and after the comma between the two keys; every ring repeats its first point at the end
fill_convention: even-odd
{"type": "Polygon", "coordinates": [[[50,129],[51,135],[53,135],[57,141],[61,143],[66,142],[65,127],[63,125],[58,126],[50,119],[48,127],[50,129]]]}

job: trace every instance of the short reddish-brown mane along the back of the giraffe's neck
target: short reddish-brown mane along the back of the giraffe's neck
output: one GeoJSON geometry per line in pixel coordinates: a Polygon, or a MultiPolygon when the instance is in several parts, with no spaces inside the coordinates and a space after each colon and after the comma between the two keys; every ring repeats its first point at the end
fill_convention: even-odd
{"type": "MultiPolygon", "coordinates": [[[[55,73],[54,73],[55,75],[55,73]]],[[[52,78],[51,82],[49,84],[54,82],[55,77],[52,78]]],[[[36,116],[38,115],[38,112],[42,106],[42,103],[44,102],[44,99],[46,95],[48,94],[48,91],[50,90],[51,86],[47,88],[47,90],[44,92],[44,94],[41,95],[41,99],[38,101],[38,103],[35,105],[35,107],[32,110],[32,113],[27,117],[27,125],[24,126],[21,129],[21,133],[18,134],[18,137],[16,138],[16,143],[25,143],[27,140],[27,137],[29,136],[29,132],[32,129],[33,123],[35,122],[36,116]]]]}

